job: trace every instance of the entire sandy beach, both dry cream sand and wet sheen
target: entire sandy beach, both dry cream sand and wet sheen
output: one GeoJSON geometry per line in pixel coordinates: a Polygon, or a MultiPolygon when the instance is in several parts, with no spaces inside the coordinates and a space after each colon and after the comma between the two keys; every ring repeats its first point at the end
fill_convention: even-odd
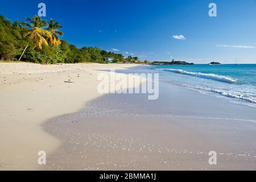
{"type": "Polygon", "coordinates": [[[166,82],[158,100],[98,94],[98,73],[151,72],[137,65],[0,68],[1,170],[256,169],[255,107],[166,82]],[[37,163],[41,150],[47,165],[37,163]]]}

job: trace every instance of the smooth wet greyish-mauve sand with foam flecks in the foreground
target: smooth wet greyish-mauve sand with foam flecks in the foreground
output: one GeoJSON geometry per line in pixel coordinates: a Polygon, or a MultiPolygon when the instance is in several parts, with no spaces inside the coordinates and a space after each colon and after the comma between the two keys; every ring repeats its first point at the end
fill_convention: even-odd
{"type": "Polygon", "coordinates": [[[256,169],[256,108],[171,84],[161,83],[152,101],[107,94],[44,129],[61,145],[40,169],[256,169]],[[209,165],[209,151],[217,165],[209,165]]]}

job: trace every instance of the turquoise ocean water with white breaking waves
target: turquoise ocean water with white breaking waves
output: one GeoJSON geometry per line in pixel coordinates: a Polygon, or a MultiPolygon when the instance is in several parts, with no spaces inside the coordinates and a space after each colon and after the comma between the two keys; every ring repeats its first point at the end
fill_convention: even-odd
{"type": "Polygon", "coordinates": [[[154,65],[160,81],[256,106],[256,64],[154,65]]]}

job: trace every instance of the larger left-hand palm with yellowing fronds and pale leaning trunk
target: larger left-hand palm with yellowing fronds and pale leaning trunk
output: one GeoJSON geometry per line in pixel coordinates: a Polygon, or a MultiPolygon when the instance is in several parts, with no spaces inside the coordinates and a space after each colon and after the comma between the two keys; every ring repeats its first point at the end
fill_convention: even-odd
{"type": "MultiPolygon", "coordinates": [[[[25,34],[32,40],[32,45],[42,49],[42,45],[46,44],[48,46],[47,40],[44,37],[47,37],[48,32],[44,29],[46,27],[46,20],[41,19],[39,16],[34,16],[34,18],[27,18],[26,22],[22,23],[22,28],[27,27],[28,30],[25,30],[25,34]]],[[[24,48],[22,55],[19,57],[19,61],[22,58],[24,52],[28,46],[24,48]]]]}

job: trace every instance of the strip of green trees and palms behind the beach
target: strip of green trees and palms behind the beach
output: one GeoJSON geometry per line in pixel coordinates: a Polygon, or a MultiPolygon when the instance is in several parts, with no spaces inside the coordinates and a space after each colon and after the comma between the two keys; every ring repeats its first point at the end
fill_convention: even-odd
{"type": "Polygon", "coordinates": [[[48,22],[39,16],[24,22],[11,22],[0,15],[0,60],[27,61],[40,64],[56,63],[143,63],[138,57],[101,50],[98,47],[82,47],[60,40],[63,28],[51,19],[48,22]]]}

